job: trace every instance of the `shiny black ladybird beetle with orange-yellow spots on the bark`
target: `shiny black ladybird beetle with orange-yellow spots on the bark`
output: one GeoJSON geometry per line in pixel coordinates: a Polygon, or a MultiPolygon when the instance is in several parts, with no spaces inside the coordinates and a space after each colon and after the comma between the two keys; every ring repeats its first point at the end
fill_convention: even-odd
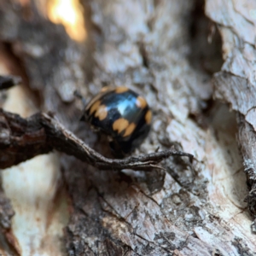
{"type": "Polygon", "coordinates": [[[148,136],[152,112],[148,103],[125,87],[103,87],[84,109],[82,120],[108,135],[113,154],[131,153],[148,136]]]}

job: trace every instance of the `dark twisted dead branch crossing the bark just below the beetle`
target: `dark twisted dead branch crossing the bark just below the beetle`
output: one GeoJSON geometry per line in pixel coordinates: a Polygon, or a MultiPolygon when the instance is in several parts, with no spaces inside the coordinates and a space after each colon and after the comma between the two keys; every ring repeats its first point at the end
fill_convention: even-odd
{"type": "Polygon", "coordinates": [[[96,166],[101,170],[143,170],[161,168],[157,164],[171,155],[187,156],[192,154],[170,150],[131,156],[124,160],[108,159],[86,145],[71,131],[47,113],[36,113],[27,119],[0,108],[0,168],[17,165],[38,154],[56,149],[73,155],[79,160],[96,166]]]}

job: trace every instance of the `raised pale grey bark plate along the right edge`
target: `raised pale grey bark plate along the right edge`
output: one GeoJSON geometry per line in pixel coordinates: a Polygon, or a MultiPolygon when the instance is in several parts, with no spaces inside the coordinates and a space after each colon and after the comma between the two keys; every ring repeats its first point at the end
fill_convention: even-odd
{"type": "MultiPolygon", "coordinates": [[[[215,98],[236,111],[237,141],[247,174],[249,211],[256,218],[256,20],[255,1],[207,0],[207,15],[218,24],[223,39],[224,65],[214,75],[215,98]],[[224,15],[223,9],[228,12],[224,15]]],[[[252,225],[256,231],[255,221],[252,225]]]]}

